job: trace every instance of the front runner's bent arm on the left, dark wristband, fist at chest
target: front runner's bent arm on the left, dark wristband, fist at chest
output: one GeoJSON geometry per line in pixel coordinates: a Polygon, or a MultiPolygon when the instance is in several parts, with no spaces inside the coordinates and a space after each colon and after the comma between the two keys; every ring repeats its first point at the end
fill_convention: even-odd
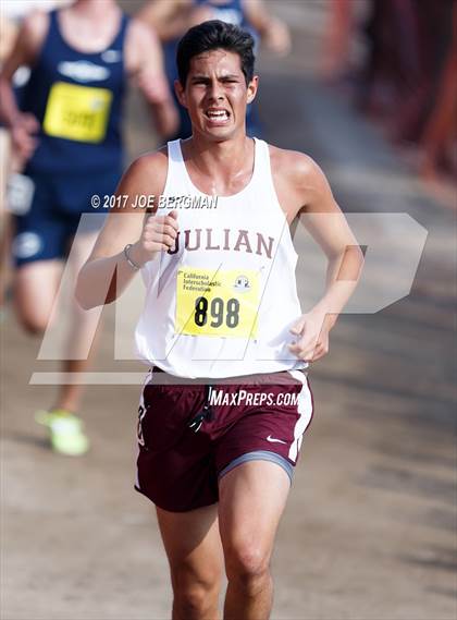
{"type": "Polygon", "coordinates": [[[149,217],[145,209],[134,206],[138,196],[158,199],[165,185],[166,169],[166,155],[162,149],[134,161],[122,178],[116,196],[128,197],[125,208],[110,211],[77,279],[76,300],[85,309],[113,302],[132,281],[137,269],[126,258],[127,244],[132,244],[128,257],[138,267],[158,252],[173,247],[177,235],[175,214],[149,217]]]}

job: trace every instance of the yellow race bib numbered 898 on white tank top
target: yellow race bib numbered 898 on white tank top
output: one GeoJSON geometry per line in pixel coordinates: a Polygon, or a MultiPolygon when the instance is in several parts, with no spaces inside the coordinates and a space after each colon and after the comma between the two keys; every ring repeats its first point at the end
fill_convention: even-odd
{"type": "Polygon", "coordinates": [[[259,273],[183,267],[176,278],[178,333],[256,338],[259,273]]]}

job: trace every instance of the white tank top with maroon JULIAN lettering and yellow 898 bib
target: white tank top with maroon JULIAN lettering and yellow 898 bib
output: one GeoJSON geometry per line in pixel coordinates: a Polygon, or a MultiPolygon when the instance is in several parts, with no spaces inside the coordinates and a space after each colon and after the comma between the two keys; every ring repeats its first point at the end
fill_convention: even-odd
{"type": "Polygon", "coordinates": [[[208,196],[190,181],[180,141],[170,142],[158,215],[177,211],[180,234],[143,267],[146,302],[137,354],[178,377],[223,378],[304,368],[288,351],[301,315],[294,250],[270,169],[255,138],[249,183],[208,196]]]}

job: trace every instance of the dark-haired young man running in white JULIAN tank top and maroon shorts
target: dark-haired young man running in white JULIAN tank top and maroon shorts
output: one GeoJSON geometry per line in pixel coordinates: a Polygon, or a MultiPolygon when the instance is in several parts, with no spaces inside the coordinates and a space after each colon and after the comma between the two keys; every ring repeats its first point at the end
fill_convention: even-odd
{"type": "Polygon", "coordinates": [[[312,412],[304,370],[326,353],[361,265],[318,166],[246,136],[252,45],[220,21],[183,37],[176,90],[193,135],[132,165],[119,194],[161,195],[158,210],[146,222],[134,208],[110,214],[76,288],[91,307],[139,269],[146,282],[136,341],[153,367],[136,488],[157,507],[174,620],[219,618],[224,563],[224,619],[270,617],[270,558],[312,412]],[[188,206],[214,196],[212,208],[188,206]],[[329,258],[325,293],[306,314],[288,229],[301,211],[329,258]]]}

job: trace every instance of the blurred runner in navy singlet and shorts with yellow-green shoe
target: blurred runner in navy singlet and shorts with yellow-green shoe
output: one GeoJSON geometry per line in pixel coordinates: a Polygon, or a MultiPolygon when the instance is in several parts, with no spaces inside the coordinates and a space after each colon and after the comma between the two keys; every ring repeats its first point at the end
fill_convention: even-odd
{"type": "MultiPolygon", "coordinates": [[[[76,0],[50,14],[28,15],[0,75],[0,116],[11,130],[13,149],[27,160],[33,186],[28,212],[15,218],[14,296],[25,328],[41,333],[51,311],[66,256],[90,197],[114,193],[123,170],[121,124],[126,78],[134,77],[150,104],[157,130],[174,133],[177,114],[163,74],[160,46],[150,29],[124,15],[114,0],[76,0]],[[20,65],[32,69],[21,96],[12,90],[20,65]]],[[[75,273],[96,239],[78,234],[75,273]]],[[[94,317],[72,304],[64,370],[87,368],[81,360],[94,317]]],[[[38,412],[54,450],[81,454],[88,440],[75,412],[82,387],[61,387],[54,406],[38,412]]]]}

